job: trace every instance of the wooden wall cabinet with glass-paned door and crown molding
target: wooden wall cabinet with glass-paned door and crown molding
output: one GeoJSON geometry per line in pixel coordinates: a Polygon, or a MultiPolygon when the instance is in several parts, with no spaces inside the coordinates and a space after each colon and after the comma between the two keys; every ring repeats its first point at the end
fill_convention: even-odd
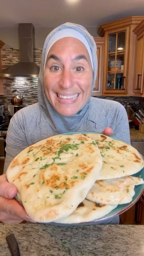
{"type": "Polygon", "coordinates": [[[105,36],[102,95],[134,96],[135,27],[144,16],[132,16],[100,26],[99,36],[105,36]]]}

